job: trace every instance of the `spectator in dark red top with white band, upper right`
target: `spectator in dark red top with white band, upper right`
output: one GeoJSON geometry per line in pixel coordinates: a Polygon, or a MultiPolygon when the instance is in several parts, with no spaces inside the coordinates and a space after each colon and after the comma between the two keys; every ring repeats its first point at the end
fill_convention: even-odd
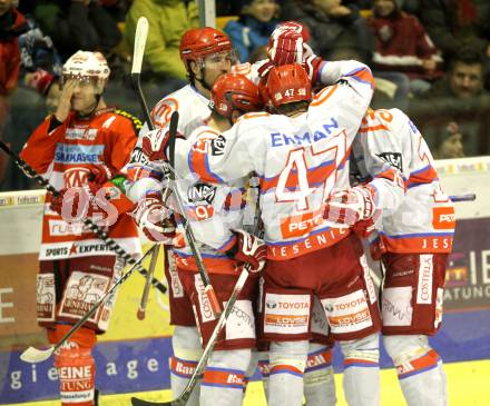
{"type": "Polygon", "coordinates": [[[406,76],[410,91],[422,93],[442,76],[442,59],[418,18],[402,11],[401,6],[402,0],[373,2],[369,19],[375,38],[372,67],[376,77],[394,82],[398,80],[392,77],[406,76]]]}

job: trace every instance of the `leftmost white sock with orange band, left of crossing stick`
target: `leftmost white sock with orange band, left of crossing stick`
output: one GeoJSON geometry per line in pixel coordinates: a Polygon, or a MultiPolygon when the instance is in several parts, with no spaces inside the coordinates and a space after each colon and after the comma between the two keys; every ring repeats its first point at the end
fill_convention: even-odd
{"type": "MultiPolygon", "coordinates": [[[[183,393],[203,354],[197,328],[175,326],[171,346],[174,356],[169,359],[170,388],[173,398],[176,398],[183,393]]],[[[199,387],[200,384],[197,383],[187,406],[199,406],[199,387]]]]}

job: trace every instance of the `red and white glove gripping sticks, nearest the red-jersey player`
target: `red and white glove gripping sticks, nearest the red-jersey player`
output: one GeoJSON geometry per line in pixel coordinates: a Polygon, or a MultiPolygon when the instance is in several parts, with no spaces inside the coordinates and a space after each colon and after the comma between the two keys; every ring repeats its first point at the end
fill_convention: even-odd
{"type": "Polygon", "coordinates": [[[177,227],[174,215],[161,202],[160,194],[147,195],[133,211],[137,225],[150,241],[168,242],[177,227]]]}

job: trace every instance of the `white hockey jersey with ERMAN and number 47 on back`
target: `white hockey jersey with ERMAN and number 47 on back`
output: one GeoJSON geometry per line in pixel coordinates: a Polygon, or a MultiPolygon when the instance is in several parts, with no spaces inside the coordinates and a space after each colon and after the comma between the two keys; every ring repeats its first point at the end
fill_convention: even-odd
{"type": "Polygon", "coordinates": [[[248,113],[223,135],[203,133],[193,145],[177,143],[177,171],[189,168],[215,184],[253,171],[258,176],[270,259],[297,257],[350,232],[326,222],[323,206],[334,188],[349,187],[347,177],[339,185],[337,169],[349,158],[371,101],[373,78],[355,61],[327,62],[321,75],[340,80],[320,91],[301,116],[248,113]]]}

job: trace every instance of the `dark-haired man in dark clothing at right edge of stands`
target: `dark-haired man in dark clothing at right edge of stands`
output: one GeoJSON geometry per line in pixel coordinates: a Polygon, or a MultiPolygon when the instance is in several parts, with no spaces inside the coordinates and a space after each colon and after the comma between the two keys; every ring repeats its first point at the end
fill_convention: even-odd
{"type": "Polygon", "coordinates": [[[450,61],[445,76],[411,100],[410,115],[424,129],[432,148],[447,140],[447,128],[454,122],[469,156],[490,154],[490,95],[483,88],[484,72],[484,56],[462,49],[450,61]]]}

